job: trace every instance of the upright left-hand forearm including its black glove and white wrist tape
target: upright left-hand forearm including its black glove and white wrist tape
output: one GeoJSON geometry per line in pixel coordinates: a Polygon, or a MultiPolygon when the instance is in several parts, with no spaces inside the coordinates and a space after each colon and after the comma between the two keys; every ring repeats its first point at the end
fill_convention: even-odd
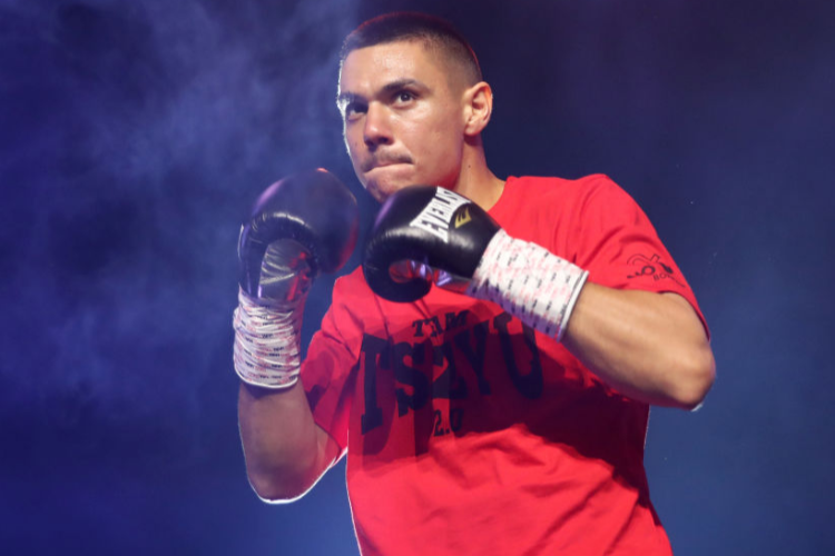
{"type": "Polygon", "coordinates": [[[246,470],[262,498],[302,496],[338,456],[299,383],[302,317],[313,280],[342,268],[357,232],[356,199],[323,169],[269,186],[240,228],[233,360],[246,470]]]}

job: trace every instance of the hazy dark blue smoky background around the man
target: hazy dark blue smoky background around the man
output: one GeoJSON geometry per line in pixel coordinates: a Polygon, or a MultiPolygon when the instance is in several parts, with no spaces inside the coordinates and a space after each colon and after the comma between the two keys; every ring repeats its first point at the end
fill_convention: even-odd
{"type": "Polygon", "coordinates": [[[337,52],[395,8],[471,39],[499,176],[608,173],[695,289],[718,379],[698,413],[654,409],[647,446],[676,554],[834,554],[824,0],[0,2],[0,550],[357,554],[343,464],[292,505],[248,487],[235,248],[312,167],[367,227],[337,52]]]}

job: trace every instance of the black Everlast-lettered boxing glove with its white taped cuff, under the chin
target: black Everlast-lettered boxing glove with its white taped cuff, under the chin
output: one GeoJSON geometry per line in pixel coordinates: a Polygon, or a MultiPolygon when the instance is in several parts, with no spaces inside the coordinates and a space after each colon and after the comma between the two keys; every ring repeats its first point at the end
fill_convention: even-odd
{"type": "Polygon", "coordinates": [[[511,238],[465,197],[429,186],[385,201],[363,271],[371,289],[391,301],[414,301],[435,284],[493,301],[558,340],[588,277],[543,247],[511,238]]]}

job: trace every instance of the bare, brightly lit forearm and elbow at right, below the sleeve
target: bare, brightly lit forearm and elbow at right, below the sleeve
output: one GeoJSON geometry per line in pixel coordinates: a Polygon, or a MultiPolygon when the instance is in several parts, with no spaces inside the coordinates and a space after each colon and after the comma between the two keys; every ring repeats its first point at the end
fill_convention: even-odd
{"type": "Polygon", "coordinates": [[[714,381],[705,329],[675,294],[586,284],[562,341],[609,386],[648,404],[691,409],[714,381]]]}

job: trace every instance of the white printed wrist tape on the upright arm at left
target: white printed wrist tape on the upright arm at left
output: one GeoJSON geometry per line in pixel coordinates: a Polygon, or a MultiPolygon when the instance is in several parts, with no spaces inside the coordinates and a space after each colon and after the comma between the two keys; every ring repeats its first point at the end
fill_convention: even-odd
{"type": "Polygon", "coordinates": [[[235,373],[263,388],[289,388],[302,368],[301,330],[304,302],[291,311],[256,304],[238,292],[235,309],[235,373]]]}

